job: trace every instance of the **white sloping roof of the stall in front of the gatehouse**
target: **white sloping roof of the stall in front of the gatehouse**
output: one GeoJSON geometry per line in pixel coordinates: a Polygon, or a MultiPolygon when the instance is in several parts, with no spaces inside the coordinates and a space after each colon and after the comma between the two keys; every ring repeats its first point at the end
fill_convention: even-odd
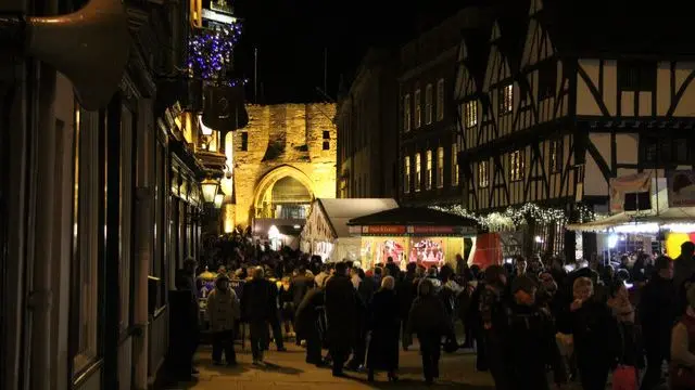
{"type": "Polygon", "coordinates": [[[316,199],[336,232],[338,238],[350,237],[348,222],[357,217],[390,210],[399,207],[391,198],[357,198],[357,199],[316,199]]]}

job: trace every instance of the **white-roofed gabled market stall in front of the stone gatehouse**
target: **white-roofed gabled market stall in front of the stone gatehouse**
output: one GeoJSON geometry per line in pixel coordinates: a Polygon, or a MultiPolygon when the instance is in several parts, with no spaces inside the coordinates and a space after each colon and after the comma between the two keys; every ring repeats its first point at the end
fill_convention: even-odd
{"type": "Polygon", "coordinates": [[[350,234],[348,221],[397,207],[395,199],[389,198],[318,198],[300,234],[300,248],[324,261],[359,260],[361,238],[350,234]]]}

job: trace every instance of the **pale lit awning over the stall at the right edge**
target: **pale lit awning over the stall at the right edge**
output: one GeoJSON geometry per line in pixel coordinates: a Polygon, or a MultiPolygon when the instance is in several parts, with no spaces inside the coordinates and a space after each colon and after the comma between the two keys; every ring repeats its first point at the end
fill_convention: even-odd
{"type": "Polygon", "coordinates": [[[611,227],[636,224],[636,223],[693,223],[695,222],[695,207],[670,207],[658,213],[653,211],[646,212],[620,212],[608,218],[586,223],[574,223],[566,226],[569,231],[574,232],[603,232],[611,227]]]}

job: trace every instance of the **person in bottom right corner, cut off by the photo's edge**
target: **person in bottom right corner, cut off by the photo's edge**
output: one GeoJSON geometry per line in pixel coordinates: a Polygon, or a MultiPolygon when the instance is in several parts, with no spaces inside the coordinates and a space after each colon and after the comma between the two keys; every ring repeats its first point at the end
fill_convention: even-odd
{"type": "Polygon", "coordinates": [[[671,333],[671,390],[695,389],[695,285],[686,292],[687,308],[671,333]]]}

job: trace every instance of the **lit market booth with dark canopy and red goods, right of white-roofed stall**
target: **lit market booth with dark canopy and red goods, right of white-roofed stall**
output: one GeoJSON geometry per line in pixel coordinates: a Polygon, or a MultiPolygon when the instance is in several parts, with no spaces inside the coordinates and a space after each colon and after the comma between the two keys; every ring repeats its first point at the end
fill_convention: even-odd
{"type": "Polygon", "coordinates": [[[476,220],[426,207],[394,208],[352,219],[348,224],[351,235],[361,242],[364,269],[389,257],[402,268],[408,262],[455,265],[456,255],[465,256],[465,239],[478,233],[476,220]]]}

